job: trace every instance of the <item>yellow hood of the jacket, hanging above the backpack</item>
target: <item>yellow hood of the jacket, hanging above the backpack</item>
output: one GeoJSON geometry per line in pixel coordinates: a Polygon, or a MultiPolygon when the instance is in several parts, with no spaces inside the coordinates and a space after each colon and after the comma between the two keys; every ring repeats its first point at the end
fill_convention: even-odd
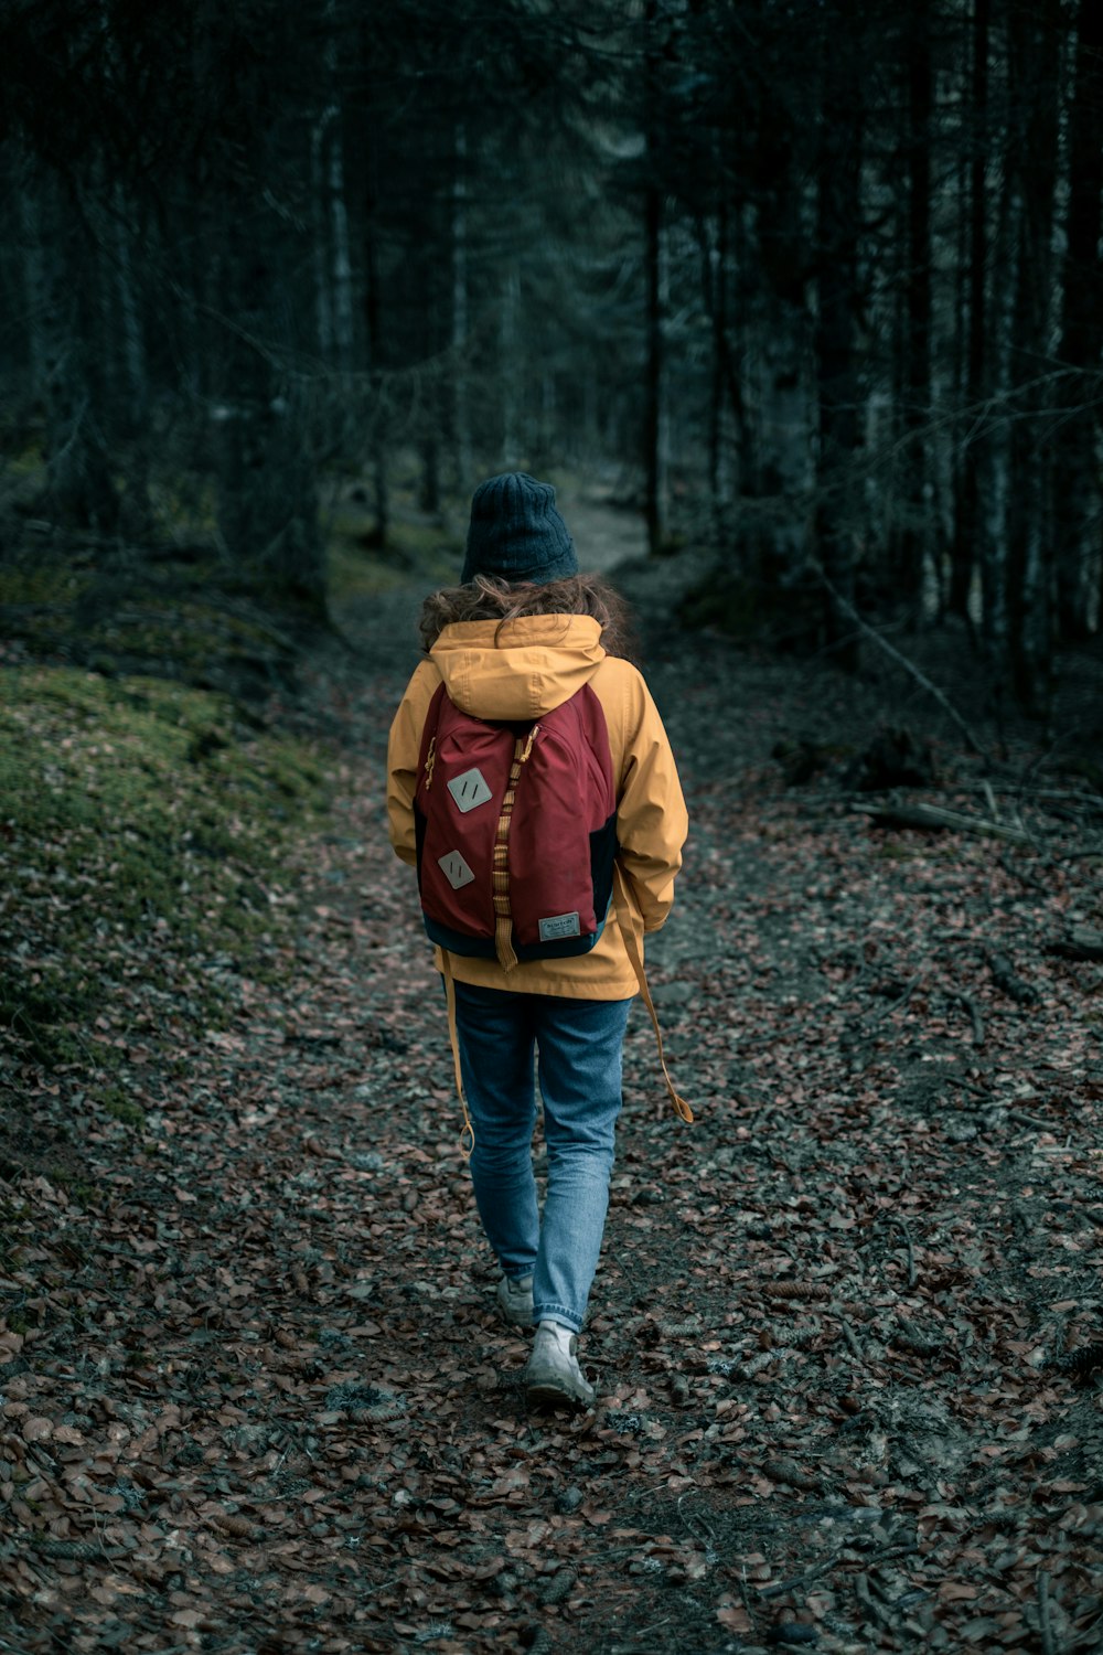
{"type": "Polygon", "coordinates": [[[430,660],[451,700],[473,718],[531,720],[561,707],[605,659],[592,616],[456,621],[430,660]]]}

